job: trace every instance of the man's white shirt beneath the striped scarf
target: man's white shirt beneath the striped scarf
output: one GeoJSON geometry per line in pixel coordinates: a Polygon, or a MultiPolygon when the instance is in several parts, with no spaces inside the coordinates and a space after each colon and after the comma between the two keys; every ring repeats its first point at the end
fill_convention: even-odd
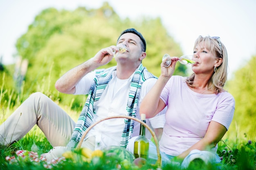
{"type": "MultiPolygon", "coordinates": [[[[88,94],[90,92],[90,87],[93,83],[95,77],[95,71],[88,73],[84,76],[81,81],[76,85],[76,92],[74,94],[88,94]]],[[[128,94],[130,83],[132,81],[133,74],[130,78],[121,80],[117,78],[116,71],[112,72],[112,79],[109,81],[106,89],[101,94],[99,99],[96,113],[93,118],[93,122],[97,122],[103,118],[110,116],[126,115],[126,105],[128,101],[128,94]],[[115,88],[114,88],[115,87],[115,88]]],[[[141,100],[148,93],[148,91],[153,87],[156,78],[149,78],[141,85],[141,93],[139,98],[139,103],[137,106],[136,118],[140,119],[139,115],[139,106],[141,100]]],[[[163,128],[165,122],[165,113],[166,110],[158,113],[154,118],[146,120],[146,123],[153,129],[163,128]]],[[[121,141],[121,134],[124,128],[124,119],[116,118],[104,120],[94,126],[89,132],[86,138],[95,135],[96,137],[96,148],[101,149],[106,146],[119,146],[121,141]]],[[[140,123],[135,121],[133,128],[133,136],[139,135],[140,123]]],[[[146,130],[146,137],[150,139],[152,135],[148,130],[146,130]]]]}

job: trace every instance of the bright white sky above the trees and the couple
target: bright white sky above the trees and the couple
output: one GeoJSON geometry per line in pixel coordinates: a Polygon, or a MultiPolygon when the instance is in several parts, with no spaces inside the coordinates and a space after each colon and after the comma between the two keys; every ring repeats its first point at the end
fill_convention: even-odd
{"type": "Polygon", "coordinates": [[[161,17],[184,54],[193,52],[199,35],[220,37],[228,50],[229,77],[256,55],[256,0],[0,0],[2,63],[14,62],[16,40],[43,9],[97,9],[104,1],[120,17],[161,17]]]}

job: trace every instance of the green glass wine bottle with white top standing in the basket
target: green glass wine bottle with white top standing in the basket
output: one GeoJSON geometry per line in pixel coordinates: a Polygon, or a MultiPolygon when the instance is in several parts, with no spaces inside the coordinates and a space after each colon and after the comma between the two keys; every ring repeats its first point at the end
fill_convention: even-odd
{"type": "MultiPolygon", "coordinates": [[[[146,115],[141,114],[141,121],[146,123],[146,115]]],[[[145,126],[140,124],[139,137],[134,142],[134,156],[135,158],[148,158],[149,142],[145,136],[145,126]]]]}

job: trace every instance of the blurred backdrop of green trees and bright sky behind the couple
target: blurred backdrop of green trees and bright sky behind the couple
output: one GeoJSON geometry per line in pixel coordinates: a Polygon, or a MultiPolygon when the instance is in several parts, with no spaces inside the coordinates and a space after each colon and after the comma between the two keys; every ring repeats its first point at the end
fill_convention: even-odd
{"type": "MultiPolygon", "coordinates": [[[[191,54],[199,35],[218,36],[229,54],[225,88],[236,100],[227,137],[255,140],[255,8],[255,0],[0,0],[0,105],[15,109],[40,91],[81,111],[85,96],[60,94],[55,81],[115,45],[126,28],[146,38],[143,64],[156,76],[163,54],[191,54]]],[[[177,64],[175,74],[189,73],[189,66],[177,64]]]]}

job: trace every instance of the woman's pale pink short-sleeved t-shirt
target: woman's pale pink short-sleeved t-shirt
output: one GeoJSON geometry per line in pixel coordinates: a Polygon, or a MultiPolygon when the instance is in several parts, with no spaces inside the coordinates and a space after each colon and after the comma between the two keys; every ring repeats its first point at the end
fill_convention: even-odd
{"type": "Polygon", "coordinates": [[[233,119],[235,100],[231,94],[193,92],[182,76],[172,76],[160,98],[168,108],[159,148],[167,155],[180,155],[202,139],[211,120],[229,129],[233,119]]]}

